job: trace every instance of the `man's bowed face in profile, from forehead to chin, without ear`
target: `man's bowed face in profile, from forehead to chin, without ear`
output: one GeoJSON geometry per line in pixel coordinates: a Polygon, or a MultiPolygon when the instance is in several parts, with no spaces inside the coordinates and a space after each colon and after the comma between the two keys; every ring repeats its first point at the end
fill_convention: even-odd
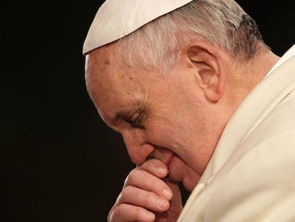
{"type": "Polygon", "coordinates": [[[165,76],[138,71],[102,47],[86,58],[86,86],[103,121],[122,134],[133,163],[163,161],[192,191],[214,151],[214,117],[193,69],[179,62],[165,76]]]}

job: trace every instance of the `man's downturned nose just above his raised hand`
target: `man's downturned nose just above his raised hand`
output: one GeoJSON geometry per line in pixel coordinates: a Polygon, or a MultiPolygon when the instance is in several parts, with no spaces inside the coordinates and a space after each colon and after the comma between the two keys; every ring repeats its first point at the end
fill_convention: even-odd
{"type": "Polygon", "coordinates": [[[145,141],[144,133],[140,129],[124,131],[122,136],[131,161],[135,164],[142,164],[155,149],[145,141]]]}

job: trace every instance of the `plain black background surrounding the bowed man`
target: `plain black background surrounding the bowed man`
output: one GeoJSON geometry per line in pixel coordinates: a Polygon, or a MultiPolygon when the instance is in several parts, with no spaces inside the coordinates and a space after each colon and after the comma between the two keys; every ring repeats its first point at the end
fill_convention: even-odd
{"type": "MultiPolygon", "coordinates": [[[[106,221],[133,168],[84,84],[101,2],[2,1],[1,221],[106,221]]],[[[276,54],[294,44],[292,1],[239,3],[276,54]]]]}

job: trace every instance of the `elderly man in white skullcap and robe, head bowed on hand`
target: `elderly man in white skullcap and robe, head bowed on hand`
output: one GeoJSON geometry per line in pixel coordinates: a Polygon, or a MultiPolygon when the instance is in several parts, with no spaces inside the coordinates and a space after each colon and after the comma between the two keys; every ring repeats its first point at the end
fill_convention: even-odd
{"type": "Polygon", "coordinates": [[[273,54],[233,0],[108,0],[83,54],[138,165],[108,221],[295,221],[295,47],[273,54]]]}

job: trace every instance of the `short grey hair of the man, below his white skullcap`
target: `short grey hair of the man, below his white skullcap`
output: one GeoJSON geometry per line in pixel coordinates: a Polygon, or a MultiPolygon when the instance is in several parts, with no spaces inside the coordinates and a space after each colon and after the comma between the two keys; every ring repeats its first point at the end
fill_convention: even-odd
{"type": "Polygon", "coordinates": [[[252,58],[263,44],[256,22],[234,0],[195,0],[120,39],[116,49],[130,66],[167,71],[195,39],[239,59],[252,58]]]}

